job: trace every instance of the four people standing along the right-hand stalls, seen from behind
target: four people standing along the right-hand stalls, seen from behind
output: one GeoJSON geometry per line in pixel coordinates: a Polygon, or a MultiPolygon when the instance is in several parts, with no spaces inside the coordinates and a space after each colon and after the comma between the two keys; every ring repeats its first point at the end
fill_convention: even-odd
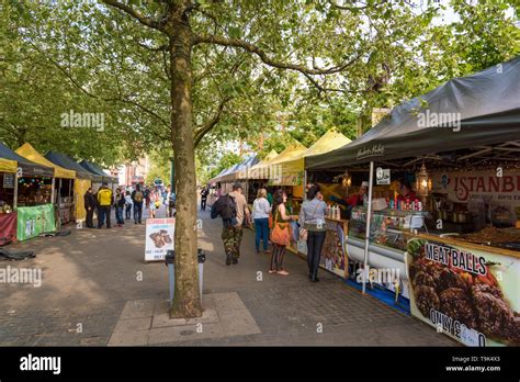
{"type": "Polygon", "coordinates": [[[260,189],[250,212],[241,184],[235,183],[231,192],[222,195],[212,205],[211,217],[221,217],[223,221],[222,238],[226,265],[238,263],[244,223],[252,218],[256,228],[256,251],[260,252],[260,244],[263,241],[263,251],[271,255],[269,273],[289,276],[290,273],[283,268],[283,258],[292,239],[291,222],[297,221],[298,235],[307,240],[309,279],[313,282],[319,281],[318,266],[325,241],[325,215],[327,214],[327,204],[324,202],[319,188],[313,186],[308,189],[307,200],[302,204],[299,215],[289,213],[285,207],[287,194],[283,190],[274,192],[272,203],[268,196],[267,190],[260,189]],[[272,250],[268,249],[269,241],[272,243],[272,250]]]}

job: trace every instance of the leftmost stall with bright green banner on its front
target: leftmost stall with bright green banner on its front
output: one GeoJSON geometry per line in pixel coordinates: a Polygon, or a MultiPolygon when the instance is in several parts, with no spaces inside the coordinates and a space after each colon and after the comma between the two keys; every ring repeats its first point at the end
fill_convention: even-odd
{"type": "MultiPolygon", "coordinates": [[[[34,237],[39,234],[37,231],[21,229],[27,224],[27,216],[24,212],[33,209],[38,210],[45,205],[47,209],[39,215],[39,218],[46,221],[54,218],[54,206],[50,200],[54,169],[31,161],[3,144],[0,144],[0,158],[16,164],[14,172],[11,172],[13,167],[12,162],[9,162],[8,171],[2,173],[1,244],[34,237]],[[21,212],[20,207],[24,210],[21,212]]],[[[5,165],[5,162],[3,164],[5,165]]],[[[45,228],[48,232],[56,229],[54,225],[46,225],[45,228]]]]}

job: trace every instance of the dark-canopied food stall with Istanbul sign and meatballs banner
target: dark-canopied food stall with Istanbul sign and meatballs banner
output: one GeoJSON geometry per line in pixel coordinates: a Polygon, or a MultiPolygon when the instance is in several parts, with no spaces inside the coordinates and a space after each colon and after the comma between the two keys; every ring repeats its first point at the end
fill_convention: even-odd
{"type": "Polygon", "coordinates": [[[369,179],[347,237],[363,292],[374,283],[409,297],[414,316],[468,346],[520,345],[518,83],[520,57],[450,80],[306,159],[315,173],[369,179]]]}

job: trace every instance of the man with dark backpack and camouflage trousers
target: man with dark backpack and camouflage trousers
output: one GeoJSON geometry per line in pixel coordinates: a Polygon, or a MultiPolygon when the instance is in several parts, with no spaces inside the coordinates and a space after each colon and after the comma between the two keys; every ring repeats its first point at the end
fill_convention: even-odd
{"type": "Polygon", "coordinates": [[[233,192],[218,198],[212,206],[211,216],[212,218],[222,217],[226,266],[230,266],[231,262],[237,265],[242,240],[242,223],[245,217],[249,218],[249,209],[240,183],[233,186],[233,192]]]}

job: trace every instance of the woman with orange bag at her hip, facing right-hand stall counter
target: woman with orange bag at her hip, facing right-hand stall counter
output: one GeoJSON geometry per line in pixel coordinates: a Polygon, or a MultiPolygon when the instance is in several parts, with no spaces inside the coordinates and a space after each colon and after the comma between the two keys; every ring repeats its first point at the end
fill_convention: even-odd
{"type": "Polygon", "coordinates": [[[269,273],[278,273],[281,276],[289,276],[289,272],[283,269],[283,256],[285,249],[291,243],[291,224],[290,222],[297,216],[287,215],[285,203],[287,194],[283,190],[276,190],[273,194],[273,229],[271,232],[271,241],[273,244],[273,251],[271,255],[271,266],[269,273]]]}

